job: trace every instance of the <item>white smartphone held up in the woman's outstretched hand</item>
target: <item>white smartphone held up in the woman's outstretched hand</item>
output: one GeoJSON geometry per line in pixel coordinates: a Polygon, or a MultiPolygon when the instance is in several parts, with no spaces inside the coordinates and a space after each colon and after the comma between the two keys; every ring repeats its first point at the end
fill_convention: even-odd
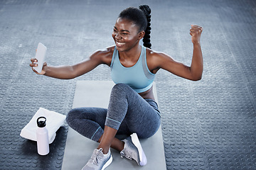
{"type": "Polygon", "coordinates": [[[36,70],[36,72],[41,73],[42,69],[43,69],[43,63],[44,63],[44,59],[46,57],[46,46],[43,45],[41,42],[38,43],[38,48],[36,50],[36,60],[38,60],[38,62],[35,62],[36,64],[38,64],[37,67],[33,67],[33,69],[36,70]]]}

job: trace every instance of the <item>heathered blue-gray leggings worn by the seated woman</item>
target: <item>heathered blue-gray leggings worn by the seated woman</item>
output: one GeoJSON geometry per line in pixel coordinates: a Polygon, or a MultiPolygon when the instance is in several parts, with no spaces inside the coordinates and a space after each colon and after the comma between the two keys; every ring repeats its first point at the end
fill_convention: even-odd
{"type": "Polygon", "coordinates": [[[157,103],[144,99],[126,84],[112,88],[108,108],[74,108],[67,115],[67,123],[81,135],[98,142],[104,127],[117,130],[117,134],[148,138],[160,126],[157,103]]]}

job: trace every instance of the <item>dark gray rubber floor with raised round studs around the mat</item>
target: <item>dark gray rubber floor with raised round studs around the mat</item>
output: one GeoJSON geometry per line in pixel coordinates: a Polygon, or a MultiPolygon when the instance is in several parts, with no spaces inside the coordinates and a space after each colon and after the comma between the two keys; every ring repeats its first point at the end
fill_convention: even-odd
{"type": "Polygon", "coordinates": [[[110,80],[97,67],[73,80],[33,74],[38,42],[50,65],[73,64],[113,45],[112,27],[128,6],[151,6],[156,51],[190,64],[191,24],[203,26],[201,81],[156,76],[167,169],[256,169],[256,1],[0,1],[0,169],[61,169],[68,127],[50,154],[19,136],[39,107],[66,114],[77,80],[110,80]]]}

